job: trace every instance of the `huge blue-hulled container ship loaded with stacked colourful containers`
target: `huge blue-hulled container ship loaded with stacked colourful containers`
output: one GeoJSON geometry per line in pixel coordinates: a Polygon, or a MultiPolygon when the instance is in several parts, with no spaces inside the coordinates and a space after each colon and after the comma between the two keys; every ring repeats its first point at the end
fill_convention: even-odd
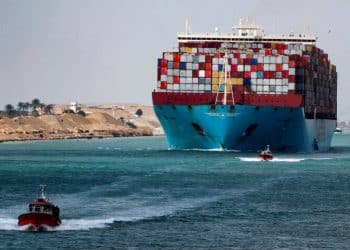
{"type": "Polygon", "coordinates": [[[186,32],[158,59],[155,113],[170,149],[325,151],[337,119],[337,72],[312,35],[186,32]]]}

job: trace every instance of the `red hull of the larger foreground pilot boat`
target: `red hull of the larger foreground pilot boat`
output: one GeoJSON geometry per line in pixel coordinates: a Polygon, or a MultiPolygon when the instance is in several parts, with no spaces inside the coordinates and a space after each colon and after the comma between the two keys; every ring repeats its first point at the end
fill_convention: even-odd
{"type": "Polygon", "coordinates": [[[61,220],[52,214],[45,213],[26,213],[18,217],[19,226],[49,226],[56,227],[61,224],[61,220]]]}

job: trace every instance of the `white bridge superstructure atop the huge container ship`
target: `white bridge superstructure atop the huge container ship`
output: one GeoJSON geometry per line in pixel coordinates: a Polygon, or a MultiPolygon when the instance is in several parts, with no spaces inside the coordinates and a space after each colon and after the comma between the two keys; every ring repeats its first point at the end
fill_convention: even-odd
{"type": "Polygon", "coordinates": [[[192,33],[186,22],[185,33],[177,35],[179,43],[187,42],[232,42],[232,43],[301,43],[315,45],[317,37],[312,35],[290,33],[288,35],[265,35],[260,27],[249,21],[249,18],[241,19],[237,26],[233,27],[233,33],[222,34],[216,28],[214,33],[192,33]]]}

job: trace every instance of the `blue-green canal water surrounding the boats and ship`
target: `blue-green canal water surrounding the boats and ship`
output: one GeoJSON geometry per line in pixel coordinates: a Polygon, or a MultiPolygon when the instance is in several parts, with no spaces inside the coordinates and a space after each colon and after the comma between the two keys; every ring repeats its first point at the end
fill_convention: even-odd
{"type": "Polygon", "coordinates": [[[164,137],[0,144],[3,249],[350,246],[350,134],[317,154],[169,151],[164,137]],[[61,208],[17,227],[38,185],[61,208]]]}

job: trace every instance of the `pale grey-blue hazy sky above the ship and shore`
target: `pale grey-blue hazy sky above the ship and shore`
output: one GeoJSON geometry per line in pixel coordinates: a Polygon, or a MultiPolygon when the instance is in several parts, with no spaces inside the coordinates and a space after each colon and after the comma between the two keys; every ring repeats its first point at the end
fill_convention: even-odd
{"type": "Polygon", "coordinates": [[[250,16],[267,34],[318,37],[338,71],[338,120],[350,121],[348,0],[0,0],[0,109],[49,104],[151,105],[157,58],[193,32],[229,33],[250,16]]]}

